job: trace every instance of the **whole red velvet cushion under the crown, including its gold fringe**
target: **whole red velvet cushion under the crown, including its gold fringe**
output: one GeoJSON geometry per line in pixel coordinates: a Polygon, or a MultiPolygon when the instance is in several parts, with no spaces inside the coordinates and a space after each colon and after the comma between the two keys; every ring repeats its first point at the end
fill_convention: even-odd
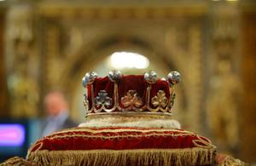
{"type": "Polygon", "coordinates": [[[183,129],[73,128],[37,140],[26,159],[38,165],[211,165],[210,140],[183,129]]]}

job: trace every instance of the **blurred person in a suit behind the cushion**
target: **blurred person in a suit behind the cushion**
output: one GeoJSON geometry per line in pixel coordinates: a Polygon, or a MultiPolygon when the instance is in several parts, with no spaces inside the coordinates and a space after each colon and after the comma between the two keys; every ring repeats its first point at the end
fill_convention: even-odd
{"type": "Polygon", "coordinates": [[[79,123],[75,123],[69,118],[69,105],[65,95],[60,91],[52,91],[45,95],[44,109],[49,117],[43,123],[41,137],[79,125],[79,123]]]}

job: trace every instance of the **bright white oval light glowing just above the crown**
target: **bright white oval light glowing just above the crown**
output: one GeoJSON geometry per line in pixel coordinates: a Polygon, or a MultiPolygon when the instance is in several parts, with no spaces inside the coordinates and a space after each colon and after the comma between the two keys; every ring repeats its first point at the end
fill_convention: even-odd
{"type": "Polygon", "coordinates": [[[149,65],[148,58],[137,53],[115,52],[111,55],[111,61],[115,68],[136,67],[137,69],[145,69],[149,65]]]}

